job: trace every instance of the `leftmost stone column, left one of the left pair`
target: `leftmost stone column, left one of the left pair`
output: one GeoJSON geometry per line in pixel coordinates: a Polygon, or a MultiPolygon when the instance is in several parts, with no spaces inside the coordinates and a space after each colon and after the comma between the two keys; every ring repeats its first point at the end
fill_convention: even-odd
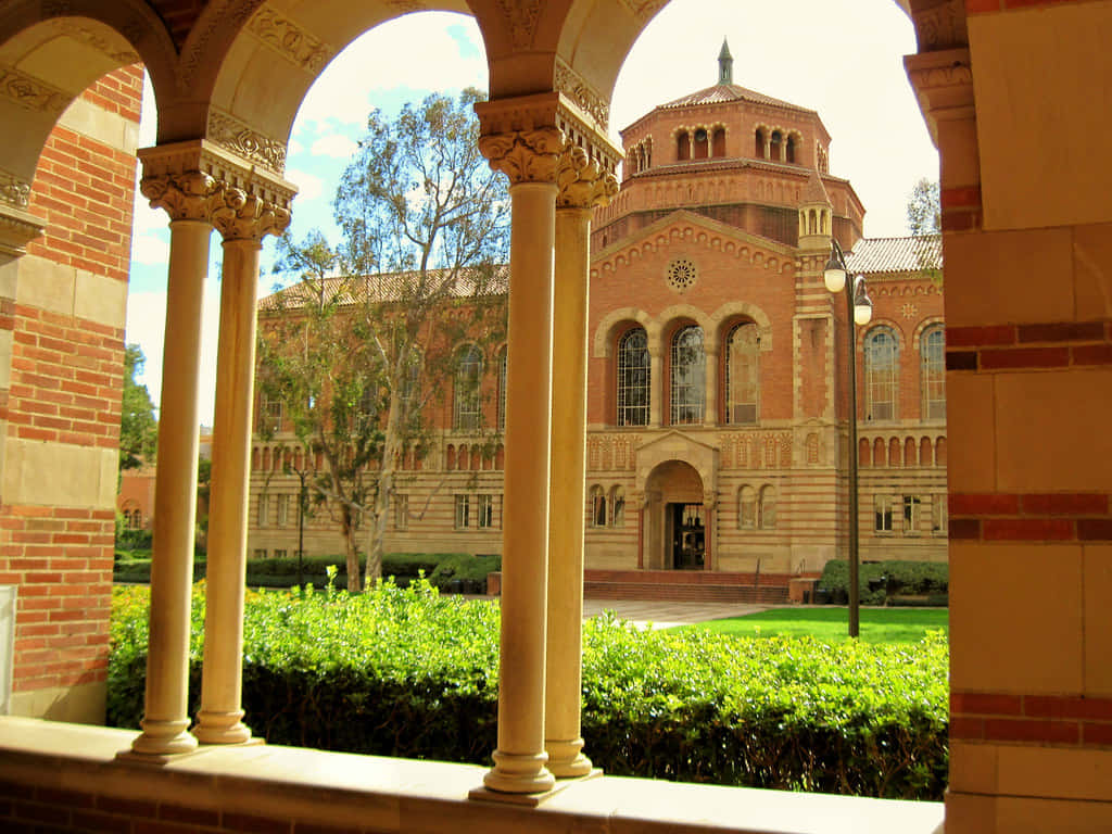
{"type": "Polygon", "coordinates": [[[153,552],[150,566],[150,637],[147,689],[135,753],[188,753],[189,607],[193,523],[197,512],[198,407],[201,301],[208,269],[209,208],[219,186],[199,170],[140,155],[140,188],[155,208],[170,215],[170,266],[166,299],[158,473],[155,478],[153,552]],[[152,169],[158,169],[152,171],[152,169]]]}

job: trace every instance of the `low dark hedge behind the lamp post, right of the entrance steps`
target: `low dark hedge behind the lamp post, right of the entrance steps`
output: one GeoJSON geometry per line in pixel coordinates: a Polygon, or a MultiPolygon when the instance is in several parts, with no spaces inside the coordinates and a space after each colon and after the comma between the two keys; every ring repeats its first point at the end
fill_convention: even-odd
{"type": "MultiPolygon", "coordinates": [[[[858,566],[857,589],[862,605],[946,605],[950,566],[944,562],[865,562],[858,566]],[[926,598],[901,598],[905,596],[926,598]]],[[[844,605],[850,594],[850,563],[827,562],[818,579],[818,590],[827,592],[826,602],[844,605]]]]}

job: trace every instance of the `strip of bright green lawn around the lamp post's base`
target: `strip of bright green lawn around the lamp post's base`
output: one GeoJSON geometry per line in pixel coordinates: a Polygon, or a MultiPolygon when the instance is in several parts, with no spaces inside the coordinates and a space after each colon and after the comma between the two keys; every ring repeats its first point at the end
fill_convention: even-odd
{"type": "MultiPolygon", "coordinates": [[[[842,606],[772,608],[745,617],[712,619],[684,626],[738,637],[811,636],[827,643],[846,639],[848,609],[842,606]]],[[[862,608],[861,639],[865,643],[916,643],[927,631],[949,634],[947,608],[862,608]]]]}

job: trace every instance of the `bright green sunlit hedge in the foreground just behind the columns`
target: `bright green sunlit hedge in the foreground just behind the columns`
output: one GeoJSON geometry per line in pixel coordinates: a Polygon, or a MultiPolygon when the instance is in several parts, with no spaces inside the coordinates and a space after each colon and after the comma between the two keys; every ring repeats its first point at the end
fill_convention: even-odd
{"type": "MultiPolygon", "coordinates": [[[[147,588],[113,593],[109,721],[138,725],[147,588]]],[[[190,714],[203,585],[193,595],[190,714]]],[[[947,648],[584,628],[583,735],[614,775],[941,800],[947,648]]],[[[249,592],[244,708],[257,735],[377,755],[489,763],[498,606],[427,582],[348,595],[249,592]]]]}

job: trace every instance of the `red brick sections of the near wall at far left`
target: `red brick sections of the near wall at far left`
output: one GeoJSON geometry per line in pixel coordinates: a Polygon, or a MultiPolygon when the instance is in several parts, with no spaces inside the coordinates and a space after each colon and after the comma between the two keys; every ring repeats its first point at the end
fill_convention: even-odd
{"type": "MultiPolygon", "coordinates": [[[[139,67],[109,73],[82,95],[132,122],[139,120],[141,97],[139,67]]],[[[28,247],[29,257],[126,282],[135,177],[133,155],[57,127],[43,147],[30,200],[47,229],[28,247]]],[[[90,279],[79,274],[76,280],[80,287],[90,279]]],[[[66,315],[64,306],[50,310],[0,301],[0,328],[12,334],[10,387],[0,390],[8,443],[116,449],[122,321],[66,315]]],[[[10,502],[11,495],[4,498],[10,502]]],[[[113,523],[111,507],[0,505],[0,583],[19,586],[17,694],[106,681],[113,523]]]]}

